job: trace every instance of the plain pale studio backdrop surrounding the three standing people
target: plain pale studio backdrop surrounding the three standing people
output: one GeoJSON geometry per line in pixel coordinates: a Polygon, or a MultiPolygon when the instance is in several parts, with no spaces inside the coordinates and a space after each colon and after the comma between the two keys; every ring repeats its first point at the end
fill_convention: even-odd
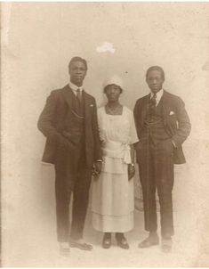
{"type": "Polygon", "coordinates": [[[4,266],[209,265],[208,16],[206,3],[2,4],[4,266]],[[165,69],[165,89],[186,103],[192,132],[183,145],[187,164],[175,168],[179,242],[170,260],[158,249],[157,255],[137,249],[138,232],[146,234],[142,214],[129,252],[108,254],[99,237],[91,253],[72,250],[71,264],[56,257],[54,171],[41,163],[44,136],[36,122],[50,92],[68,83],[68,61],[76,55],[88,62],[84,88],[98,106],[105,101],[103,80],[117,73],[125,81],[121,102],[133,110],[149,93],[145,72],[151,65],[165,69]]]}

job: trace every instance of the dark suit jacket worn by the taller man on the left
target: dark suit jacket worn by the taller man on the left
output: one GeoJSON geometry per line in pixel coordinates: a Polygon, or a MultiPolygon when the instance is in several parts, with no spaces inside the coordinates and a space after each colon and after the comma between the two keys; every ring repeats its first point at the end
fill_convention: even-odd
{"type": "MultiPolygon", "coordinates": [[[[47,138],[42,159],[44,162],[54,164],[60,143],[67,143],[72,158],[75,158],[77,135],[70,121],[72,94],[68,85],[52,91],[38,119],[37,127],[47,138]]],[[[101,159],[97,107],[92,95],[84,92],[83,96],[85,156],[87,166],[92,167],[94,161],[101,159]]]]}

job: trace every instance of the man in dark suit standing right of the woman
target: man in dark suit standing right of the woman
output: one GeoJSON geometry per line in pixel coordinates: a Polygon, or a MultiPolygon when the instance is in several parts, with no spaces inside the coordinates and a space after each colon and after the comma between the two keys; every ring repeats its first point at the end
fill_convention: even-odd
{"type": "Polygon", "coordinates": [[[163,89],[165,72],[158,66],[146,74],[150,94],[137,100],[134,118],[140,142],[136,146],[144,205],[145,230],[149,237],[139,248],[159,243],[156,190],[160,203],[162,249],[172,249],[173,164],[185,163],[181,144],[190,133],[189,116],[181,98],[163,89]]]}

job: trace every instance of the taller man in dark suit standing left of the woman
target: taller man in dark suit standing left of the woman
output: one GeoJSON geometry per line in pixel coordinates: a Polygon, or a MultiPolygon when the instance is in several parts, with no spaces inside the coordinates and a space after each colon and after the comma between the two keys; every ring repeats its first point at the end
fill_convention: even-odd
{"type": "Polygon", "coordinates": [[[60,253],[65,256],[69,254],[69,246],[92,249],[83,239],[84,219],[92,167],[100,173],[101,151],[96,102],[83,87],[86,72],[84,59],[71,59],[68,64],[69,84],[52,91],[37,124],[47,138],[43,161],[55,167],[57,238],[60,253]],[[73,212],[69,232],[68,208],[72,192],[73,212]]]}

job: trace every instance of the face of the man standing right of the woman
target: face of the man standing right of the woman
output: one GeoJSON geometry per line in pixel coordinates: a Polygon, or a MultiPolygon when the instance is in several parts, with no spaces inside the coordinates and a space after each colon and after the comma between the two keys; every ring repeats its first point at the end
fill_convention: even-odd
{"type": "Polygon", "coordinates": [[[162,73],[158,70],[151,70],[146,78],[149,89],[153,94],[157,94],[162,89],[164,78],[162,73]]]}

